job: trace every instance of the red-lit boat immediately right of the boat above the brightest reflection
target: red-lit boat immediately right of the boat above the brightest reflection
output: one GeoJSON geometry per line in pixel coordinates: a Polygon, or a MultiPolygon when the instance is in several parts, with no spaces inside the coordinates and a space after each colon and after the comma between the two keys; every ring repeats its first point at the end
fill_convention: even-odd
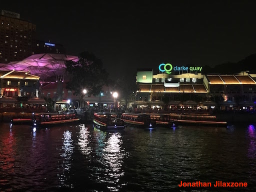
{"type": "Polygon", "coordinates": [[[138,127],[149,129],[156,128],[156,122],[154,119],[150,118],[149,113],[125,112],[122,113],[121,119],[127,124],[136,125],[138,127]]]}

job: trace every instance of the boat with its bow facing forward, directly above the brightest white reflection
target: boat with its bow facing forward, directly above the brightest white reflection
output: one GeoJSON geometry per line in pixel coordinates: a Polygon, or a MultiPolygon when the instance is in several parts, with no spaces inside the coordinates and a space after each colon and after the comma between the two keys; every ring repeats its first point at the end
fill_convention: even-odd
{"type": "Polygon", "coordinates": [[[92,121],[100,130],[122,130],[125,127],[124,121],[112,112],[94,112],[92,121]]]}

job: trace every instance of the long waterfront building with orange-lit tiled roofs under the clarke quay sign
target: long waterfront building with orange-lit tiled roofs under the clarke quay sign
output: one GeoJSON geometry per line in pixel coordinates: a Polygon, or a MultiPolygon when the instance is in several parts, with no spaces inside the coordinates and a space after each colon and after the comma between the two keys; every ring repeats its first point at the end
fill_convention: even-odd
{"type": "Polygon", "coordinates": [[[216,105],[220,109],[255,108],[253,101],[256,101],[256,74],[248,71],[237,74],[202,74],[197,70],[191,72],[175,67],[175,71],[171,71],[171,65],[167,69],[169,73],[163,69],[157,74],[153,73],[152,68],[138,68],[135,107],[160,108],[164,105],[182,105],[180,107],[201,108],[198,106],[207,103],[206,108],[214,108],[216,105]],[[212,102],[205,102],[206,100],[212,102]]]}

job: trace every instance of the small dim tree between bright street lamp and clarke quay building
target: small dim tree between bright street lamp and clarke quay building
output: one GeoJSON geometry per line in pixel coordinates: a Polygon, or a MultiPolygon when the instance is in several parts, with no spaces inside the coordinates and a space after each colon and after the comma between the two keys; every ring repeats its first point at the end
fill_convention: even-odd
{"type": "MultiPolygon", "coordinates": [[[[135,76],[135,75],[134,75],[135,76]]],[[[115,89],[118,92],[119,99],[123,99],[125,106],[127,107],[127,102],[135,99],[135,92],[138,90],[136,81],[127,80],[127,77],[120,77],[115,82],[115,89]]]]}

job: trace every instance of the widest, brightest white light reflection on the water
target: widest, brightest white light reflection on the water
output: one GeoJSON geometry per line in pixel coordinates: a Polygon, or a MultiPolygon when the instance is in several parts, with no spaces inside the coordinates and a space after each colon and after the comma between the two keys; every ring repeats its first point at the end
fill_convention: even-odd
{"type": "MultiPolygon", "coordinates": [[[[120,132],[96,131],[98,145],[95,152],[98,162],[94,169],[95,181],[107,187],[110,191],[118,191],[122,187],[120,177],[124,175],[123,160],[125,156],[122,148],[122,135],[120,132]]],[[[93,179],[93,178],[92,178],[93,179]]]]}

